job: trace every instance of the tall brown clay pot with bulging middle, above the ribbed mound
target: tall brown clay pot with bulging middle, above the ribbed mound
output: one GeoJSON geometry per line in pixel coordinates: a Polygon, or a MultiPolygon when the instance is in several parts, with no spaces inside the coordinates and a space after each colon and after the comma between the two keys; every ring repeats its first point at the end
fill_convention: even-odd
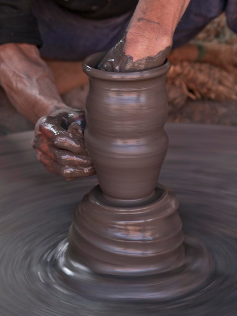
{"type": "Polygon", "coordinates": [[[90,81],[86,147],[108,198],[145,199],[154,191],[168,146],[165,74],[170,63],[113,73],[96,69],[102,57],[91,55],[83,64],[90,81]]]}

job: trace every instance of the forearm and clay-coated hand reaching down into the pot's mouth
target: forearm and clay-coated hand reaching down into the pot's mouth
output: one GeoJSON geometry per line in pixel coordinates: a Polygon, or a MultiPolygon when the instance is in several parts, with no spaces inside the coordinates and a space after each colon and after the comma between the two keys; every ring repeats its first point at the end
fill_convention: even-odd
{"type": "Polygon", "coordinates": [[[160,66],[189,0],[140,0],[122,39],[98,68],[126,72],[160,66]]]}

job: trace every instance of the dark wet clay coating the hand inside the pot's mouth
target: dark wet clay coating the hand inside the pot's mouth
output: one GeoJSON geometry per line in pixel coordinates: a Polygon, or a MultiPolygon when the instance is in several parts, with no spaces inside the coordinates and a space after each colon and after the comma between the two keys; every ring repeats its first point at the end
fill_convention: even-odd
{"type": "Polygon", "coordinates": [[[125,54],[126,35],[125,32],[116,45],[107,52],[99,63],[98,69],[111,72],[131,72],[151,69],[164,64],[171,50],[170,46],[159,51],[155,56],[147,56],[134,62],[132,56],[125,54]]]}

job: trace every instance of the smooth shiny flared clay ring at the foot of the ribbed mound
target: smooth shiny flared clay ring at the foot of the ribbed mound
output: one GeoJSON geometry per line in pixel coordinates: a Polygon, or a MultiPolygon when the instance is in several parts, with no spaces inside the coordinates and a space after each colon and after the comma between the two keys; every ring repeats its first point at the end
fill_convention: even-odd
{"type": "Polygon", "coordinates": [[[102,301],[167,301],[192,294],[212,282],[213,260],[195,238],[186,236],[184,265],[172,271],[147,276],[111,276],[90,271],[67,257],[68,242],[55,253],[57,272],[81,296],[102,301]]]}

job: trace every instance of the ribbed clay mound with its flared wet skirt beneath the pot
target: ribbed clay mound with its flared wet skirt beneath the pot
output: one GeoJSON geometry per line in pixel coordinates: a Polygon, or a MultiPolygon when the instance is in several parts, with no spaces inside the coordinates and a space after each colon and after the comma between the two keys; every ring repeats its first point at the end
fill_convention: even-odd
{"type": "Polygon", "coordinates": [[[112,202],[99,186],[75,211],[55,266],[76,292],[94,299],[167,300],[207,285],[209,252],[186,236],[174,193],[158,185],[141,202],[112,202]]]}

